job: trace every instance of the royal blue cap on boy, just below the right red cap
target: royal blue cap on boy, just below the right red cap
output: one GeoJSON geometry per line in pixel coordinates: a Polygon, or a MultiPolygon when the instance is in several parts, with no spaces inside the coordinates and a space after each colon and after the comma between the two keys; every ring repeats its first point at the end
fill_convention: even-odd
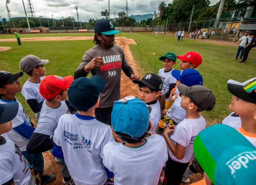
{"type": "Polygon", "coordinates": [[[203,85],[202,75],[195,69],[185,69],[179,71],[177,69],[172,70],[172,76],[177,80],[180,80],[186,86],[203,85]]]}

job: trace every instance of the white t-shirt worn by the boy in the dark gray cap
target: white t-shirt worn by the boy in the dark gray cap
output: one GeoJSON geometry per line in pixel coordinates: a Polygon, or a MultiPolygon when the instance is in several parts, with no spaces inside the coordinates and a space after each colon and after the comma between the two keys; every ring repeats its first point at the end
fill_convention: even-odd
{"type": "Polygon", "coordinates": [[[168,154],[172,160],[181,163],[190,162],[194,157],[193,144],[196,136],[206,127],[206,121],[203,116],[197,119],[184,119],[178,125],[171,134],[171,141],[176,146],[176,142],[181,144],[185,148],[185,154],[182,159],[177,159],[169,147],[167,147],[168,154]]]}

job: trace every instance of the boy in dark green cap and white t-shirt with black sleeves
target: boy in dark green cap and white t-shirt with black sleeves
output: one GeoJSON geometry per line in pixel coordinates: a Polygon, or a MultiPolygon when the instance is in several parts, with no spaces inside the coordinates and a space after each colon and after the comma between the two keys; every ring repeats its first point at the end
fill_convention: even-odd
{"type": "MultiPolygon", "coordinates": [[[[172,76],[173,65],[176,64],[176,55],[172,52],[166,53],[160,57],[159,60],[163,61],[163,67],[159,70],[158,75],[163,81],[162,94],[165,96],[165,109],[171,108],[172,101],[170,99],[170,92],[176,86],[176,78],[172,76]]],[[[164,122],[160,120],[158,134],[162,134],[164,130],[164,122]]]]}

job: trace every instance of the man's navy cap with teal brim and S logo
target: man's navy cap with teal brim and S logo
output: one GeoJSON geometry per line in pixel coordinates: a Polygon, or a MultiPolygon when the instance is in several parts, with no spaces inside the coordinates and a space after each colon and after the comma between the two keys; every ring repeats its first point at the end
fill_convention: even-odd
{"type": "Polygon", "coordinates": [[[121,33],[121,31],[115,30],[114,23],[108,19],[101,19],[95,23],[94,33],[102,33],[104,35],[113,35],[121,33]]]}

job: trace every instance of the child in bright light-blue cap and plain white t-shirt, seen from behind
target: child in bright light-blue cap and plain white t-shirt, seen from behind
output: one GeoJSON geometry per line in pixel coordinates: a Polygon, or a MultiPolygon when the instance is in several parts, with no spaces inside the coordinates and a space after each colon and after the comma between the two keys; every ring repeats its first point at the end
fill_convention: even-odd
{"type": "Polygon", "coordinates": [[[151,127],[146,103],[134,96],[115,101],[111,123],[124,141],[109,142],[103,150],[103,164],[115,174],[114,184],[158,184],[167,147],[158,134],[145,139],[151,127]]]}

